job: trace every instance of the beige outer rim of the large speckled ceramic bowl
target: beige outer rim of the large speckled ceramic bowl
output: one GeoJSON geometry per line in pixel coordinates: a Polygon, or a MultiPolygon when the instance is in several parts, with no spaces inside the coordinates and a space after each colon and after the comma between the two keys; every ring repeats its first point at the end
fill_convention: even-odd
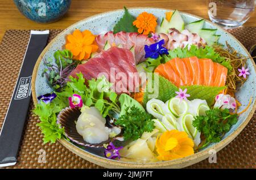
{"type": "MultiPolygon", "coordinates": [[[[130,8],[130,9],[142,9],[142,8],[143,9],[149,8],[149,9],[173,11],[173,10],[170,10],[170,9],[167,9],[167,8],[152,8],[152,7],[135,7],[135,8],[130,8]]],[[[74,26],[76,24],[79,24],[79,23],[83,22],[84,20],[94,18],[94,17],[99,16],[99,15],[105,15],[105,14],[108,14],[110,12],[121,11],[121,10],[122,9],[118,9],[118,10],[103,12],[101,14],[96,14],[96,15],[90,16],[88,18],[82,19],[79,22],[77,22],[75,24],[72,24],[71,26],[74,26]]],[[[180,11],[180,12],[182,12],[182,11],[180,11]]],[[[189,14],[187,12],[182,12],[182,13],[186,14],[186,15],[194,16],[195,18],[204,19],[204,18],[201,18],[199,16],[189,14]]],[[[205,21],[214,25],[217,28],[222,29],[222,31],[225,31],[225,29],[223,29],[219,25],[214,24],[214,23],[210,22],[207,19],[205,19],[205,21]]],[[[59,35],[57,35],[55,38],[53,38],[53,40],[51,42],[49,42],[49,44],[46,46],[46,48],[43,50],[43,52],[39,55],[39,58],[36,62],[36,65],[34,67],[33,74],[32,74],[32,88],[31,89],[32,89],[32,97],[33,97],[34,104],[36,104],[38,102],[37,98],[36,98],[36,92],[35,92],[35,82],[36,82],[36,74],[37,74],[37,71],[38,71],[39,64],[42,61],[42,58],[43,58],[44,54],[46,54],[47,50],[52,45],[52,43],[56,40],[56,38],[59,37],[60,35],[63,35],[66,31],[68,31],[69,28],[71,28],[71,26],[64,29],[61,33],[59,33],[59,35]]],[[[250,61],[252,62],[253,66],[254,66],[254,70],[256,71],[256,66],[255,66],[255,63],[253,61],[253,58],[251,58],[247,49],[241,44],[240,41],[237,40],[236,37],[234,37],[233,35],[231,35],[227,31],[225,31],[225,32],[229,36],[234,38],[234,40],[236,40],[238,42],[238,44],[241,46],[241,48],[243,48],[243,50],[245,50],[248,57],[250,57],[250,61]]],[[[97,155],[94,155],[93,153],[90,153],[90,152],[86,152],[83,149],[81,149],[81,148],[77,147],[76,145],[72,144],[71,142],[68,142],[67,140],[60,139],[59,142],[61,144],[63,144],[64,147],[69,149],[69,151],[72,151],[76,155],[84,158],[85,160],[88,160],[88,161],[93,162],[94,164],[97,164],[97,165],[100,165],[100,166],[104,166],[106,168],[184,168],[186,166],[195,164],[196,162],[202,161],[205,158],[208,158],[210,156],[210,154],[209,154],[210,149],[214,149],[216,152],[218,152],[222,148],[224,148],[226,145],[228,145],[230,142],[232,142],[232,140],[234,138],[236,138],[236,136],[238,134],[240,134],[240,132],[243,130],[243,128],[245,128],[247,123],[249,123],[251,117],[253,117],[253,114],[254,114],[255,110],[256,110],[256,101],[254,101],[253,108],[251,109],[251,112],[247,115],[247,118],[245,119],[245,121],[243,121],[241,123],[241,125],[235,131],[233,131],[229,136],[227,136],[225,139],[221,140],[220,143],[216,143],[216,144],[212,145],[211,147],[204,149],[203,151],[195,153],[194,155],[187,156],[187,157],[184,157],[184,158],[179,158],[179,159],[176,159],[176,160],[171,160],[171,161],[139,163],[139,162],[125,162],[125,161],[109,160],[108,158],[97,156],[97,155]]]]}

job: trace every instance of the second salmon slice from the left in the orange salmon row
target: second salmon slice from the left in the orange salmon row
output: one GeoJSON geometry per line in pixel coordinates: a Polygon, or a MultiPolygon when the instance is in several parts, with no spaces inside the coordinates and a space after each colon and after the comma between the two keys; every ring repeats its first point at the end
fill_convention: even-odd
{"type": "Polygon", "coordinates": [[[166,64],[171,65],[172,69],[177,75],[179,75],[180,79],[183,80],[184,84],[191,85],[191,76],[189,74],[187,66],[182,61],[182,59],[174,58],[171,61],[168,61],[166,64]]]}

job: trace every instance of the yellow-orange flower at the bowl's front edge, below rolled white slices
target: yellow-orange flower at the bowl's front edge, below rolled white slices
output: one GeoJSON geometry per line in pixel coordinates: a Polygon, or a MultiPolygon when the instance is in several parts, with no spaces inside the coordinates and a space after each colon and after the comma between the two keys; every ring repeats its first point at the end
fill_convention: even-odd
{"type": "Polygon", "coordinates": [[[163,161],[193,155],[193,146],[193,140],[185,132],[177,130],[164,132],[155,143],[158,159],[163,161]]]}

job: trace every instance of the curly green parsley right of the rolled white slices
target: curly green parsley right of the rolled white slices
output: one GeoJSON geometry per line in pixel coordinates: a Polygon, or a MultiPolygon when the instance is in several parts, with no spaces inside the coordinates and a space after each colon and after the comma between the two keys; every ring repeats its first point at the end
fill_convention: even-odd
{"type": "Polygon", "coordinates": [[[206,147],[209,143],[220,142],[222,136],[237,123],[237,114],[230,114],[228,109],[215,108],[205,113],[206,115],[196,116],[192,122],[192,125],[206,138],[205,144],[200,148],[206,147]]]}

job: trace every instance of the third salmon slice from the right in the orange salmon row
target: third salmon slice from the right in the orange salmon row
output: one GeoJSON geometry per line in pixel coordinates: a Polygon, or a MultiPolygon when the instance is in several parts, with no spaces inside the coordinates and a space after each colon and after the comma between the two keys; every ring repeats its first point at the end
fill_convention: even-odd
{"type": "Polygon", "coordinates": [[[203,85],[204,79],[201,78],[201,68],[199,64],[199,59],[194,57],[183,58],[182,59],[188,68],[189,75],[191,76],[191,85],[203,85]]]}

